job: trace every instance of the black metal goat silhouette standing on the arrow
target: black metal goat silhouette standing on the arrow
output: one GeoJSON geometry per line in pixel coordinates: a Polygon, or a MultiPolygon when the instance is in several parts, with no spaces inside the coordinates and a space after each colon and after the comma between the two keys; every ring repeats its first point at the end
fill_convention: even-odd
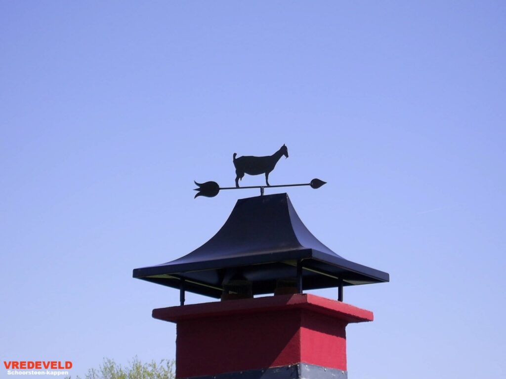
{"type": "Polygon", "coordinates": [[[273,155],[267,157],[252,157],[243,156],[235,158],[237,153],[234,153],[234,166],[235,166],[235,186],[239,187],[239,179],[242,180],[244,174],[260,175],[265,174],[265,182],[269,186],[269,173],[274,170],[276,163],[278,163],[281,156],[288,158],[288,148],[283,145],[273,155]]]}

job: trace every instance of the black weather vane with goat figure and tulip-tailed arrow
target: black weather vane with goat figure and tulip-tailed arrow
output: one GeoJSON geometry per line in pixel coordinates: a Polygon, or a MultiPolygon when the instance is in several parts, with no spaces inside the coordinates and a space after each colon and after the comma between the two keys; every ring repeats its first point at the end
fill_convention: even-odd
{"type": "Polygon", "coordinates": [[[274,187],[296,187],[301,185],[309,185],[311,188],[320,188],[326,182],[320,179],[313,179],[309,183],[302,184],[278,184],[278,185],[270,185],[269,184],[269,174],[274,167],[276,167],[276,163],[278,163],[279,159],[282,156],[288,158],[288,148],[286,145],[281,146],[281,148],[275,152],[273,155],[268,155],[265,157],[254,157],[254,156],[243,156],[237,157],[237,153],[233,155],[233,162],[235,166],[235,187],[220,187],[220,185],[216,181],[206,181],[205,183],[197,183],[198,188],[195,188],[194,191],[197,191],[195,198],[198,196],[205,196],[207,198],[213,198],[220,192],[221,189],[246,189],[246,188],[260,188],[260,195],[264,195],[264,188],[274,188],[274,187]],[[239,187],[239,180],[242,180],[244,174],[248,175],[260,175],[265,174],[265,183],[266,185],[250,185],[245,187],[239,187]]]}

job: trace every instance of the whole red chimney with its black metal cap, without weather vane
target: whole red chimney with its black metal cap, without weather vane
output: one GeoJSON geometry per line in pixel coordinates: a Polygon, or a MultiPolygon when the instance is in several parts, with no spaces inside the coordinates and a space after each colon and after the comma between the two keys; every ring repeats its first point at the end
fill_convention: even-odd
{"type": "Polygon", "coordinates": [[[346,325],[373,315],[343,287],[389,281],[318,241],[286,194],[239,200],[207,243],[134,277],[180,289],[181,306],[153,310],[177,324],[178,379],[346,378],[346,325]],[[340,301],[303,294],[328,287],[340,301]],[[222,301],[184,305],[185,291],[222,301]]]}

